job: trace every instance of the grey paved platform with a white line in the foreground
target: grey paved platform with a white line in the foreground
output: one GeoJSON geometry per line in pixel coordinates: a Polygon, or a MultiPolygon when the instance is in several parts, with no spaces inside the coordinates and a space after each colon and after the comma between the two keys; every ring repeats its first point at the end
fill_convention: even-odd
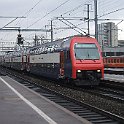
{"type": "Polygon", "coordinates": [[[91,124],[8,76],[0,76],[1,124],[91,124]]]}

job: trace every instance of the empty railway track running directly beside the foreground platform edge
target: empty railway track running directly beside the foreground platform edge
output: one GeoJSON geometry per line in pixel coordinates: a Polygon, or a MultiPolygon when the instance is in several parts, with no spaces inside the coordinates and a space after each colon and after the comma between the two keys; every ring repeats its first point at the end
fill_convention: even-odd
{"type": "MultiPolygon", "coordinates": [[[[6,73],[4,72],[3,75],[6,75],[6,73]]],[[[72,91],[73,89],[68,89],[64,87],[64,89],[62,88],[63,91],[68,91],[68,93],[63,93],[62,91],[60,92],[59,89],[61,86],[58,84],[56,86],[59,87],[59,89],[55,90],[57,89],[55,85],[50,87],[41,85],[37,81],[36,82],[31,81],[30,79],[25,78],[22,75],[19,76],[19,75],[9,73],[9,76],[16,79],[18,82],[22,83],[23,85],[29,87],[30,89],[34,90],[35,92],[47,97],[51,101],[54,101],[55,103],[67,108],[68,110],[74,112],[75,114],[78,114],[83,118],[86,118],[87,120],[91,121],[94,124],[97,124],[97,123],[98,124],[99,123],[100,124],[102,123],[104,124],[105,123],[108,123],[108,124],[122,123],[123,124],[124,123],[123,117],[114,115],[105,110],[86,104],[81,100],[75,99],[74,97],[72,97],[73,95],[75,95],[75,92],[72,91]]],[[[49,84],[49,82],[47,84],[49,84]]]]}

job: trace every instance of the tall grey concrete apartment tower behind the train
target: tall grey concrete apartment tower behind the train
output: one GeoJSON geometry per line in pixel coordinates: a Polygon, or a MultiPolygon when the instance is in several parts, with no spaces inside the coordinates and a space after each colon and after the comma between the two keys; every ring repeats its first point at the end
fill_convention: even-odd
{"type": "Polygon", "coordinates": [[[118,27],[115,23],[98,24],[98,41],[103,47],[118,46],[118,27]]]}

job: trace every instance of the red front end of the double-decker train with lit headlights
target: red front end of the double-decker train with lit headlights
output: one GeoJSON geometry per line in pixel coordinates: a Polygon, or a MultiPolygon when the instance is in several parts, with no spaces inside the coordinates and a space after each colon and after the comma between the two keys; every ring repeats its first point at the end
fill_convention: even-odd
{"type": "Polygon", "coordinates": [[[98,85],[104,78],[101,49],[96,39],[75,37],[71,40],[72,79],[77,85],[98,85]]]}

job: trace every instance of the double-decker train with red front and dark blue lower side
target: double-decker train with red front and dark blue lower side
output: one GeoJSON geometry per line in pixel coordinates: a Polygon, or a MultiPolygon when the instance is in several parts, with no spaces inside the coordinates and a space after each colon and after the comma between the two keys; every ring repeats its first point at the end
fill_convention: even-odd
{"type": "Polygon", "coordinates": [[[1,64],[76,85],[99,85],[104,78],[101,48],[89,36],[70,36],[10,52],[1,58],[1,64]]]}

